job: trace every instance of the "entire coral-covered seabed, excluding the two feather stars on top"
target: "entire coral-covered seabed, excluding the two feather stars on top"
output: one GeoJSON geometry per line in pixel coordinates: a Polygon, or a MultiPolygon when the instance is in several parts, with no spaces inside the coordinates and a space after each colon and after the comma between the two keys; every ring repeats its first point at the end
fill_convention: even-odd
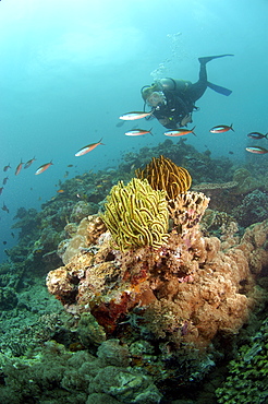
{"type": "Polygon", "coordinates": [[[240,166],[166,140],[59,180],[40,212],[21,207],[19,243],[0,265],[0,401],[203,404],[216,387],[218,402],[243,403],[239,387],[267,401],[267,159],[247,157],[240,166]],[[106,197],[159,155],[191,173],[192,192],[167,198],[157,248],[121,251],[100,217],[106,197]],[[49,271],[60,301],[45,289],[49,271]]]}

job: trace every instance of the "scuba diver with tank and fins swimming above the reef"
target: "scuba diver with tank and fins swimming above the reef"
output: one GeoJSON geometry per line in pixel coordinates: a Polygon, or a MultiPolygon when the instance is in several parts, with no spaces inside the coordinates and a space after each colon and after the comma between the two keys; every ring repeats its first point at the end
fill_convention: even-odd
{"type": "Polygon", "coordinates": [[[193,110],[198,109],[195,102],[209,87],[217,93],[230,95],[231,90],[221,87],[207,81],[206,64],[212,59],[233,55],[219,55],[198,58],[200,63],[199,80],[191,83],[185,80],[160,79],[150,86],[145,85],[142,97],[151,107],[151,115],[167,129],[178,129],[192,122],[193,110]]]}

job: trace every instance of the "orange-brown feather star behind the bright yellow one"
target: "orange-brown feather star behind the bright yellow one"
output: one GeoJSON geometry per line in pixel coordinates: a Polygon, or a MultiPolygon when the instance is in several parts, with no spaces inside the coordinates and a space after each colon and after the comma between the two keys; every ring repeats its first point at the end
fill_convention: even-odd
{"type": "Polygon", "coordinates": [[[167,199],[174,199],[180,193],[186,192],[192,183],[191,175],[185,168],[176,166],[170,158],[163,156],[153,157],[144,170],[137,169],[135,174],[137,178],[146,178],[153,189],[165,190],[167,199]]]}

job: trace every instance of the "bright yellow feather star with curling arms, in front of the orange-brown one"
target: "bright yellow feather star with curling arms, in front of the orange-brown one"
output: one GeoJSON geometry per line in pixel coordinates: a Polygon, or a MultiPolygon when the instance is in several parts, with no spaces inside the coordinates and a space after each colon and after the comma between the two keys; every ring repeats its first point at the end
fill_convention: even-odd
{"type": "Polygon", "coordinates": [[[101,215],[119,248],[161,247],[168,239],[168,203],[165,191],[155,191],[147,180],[133,178],[112,187],[101,215]]]}

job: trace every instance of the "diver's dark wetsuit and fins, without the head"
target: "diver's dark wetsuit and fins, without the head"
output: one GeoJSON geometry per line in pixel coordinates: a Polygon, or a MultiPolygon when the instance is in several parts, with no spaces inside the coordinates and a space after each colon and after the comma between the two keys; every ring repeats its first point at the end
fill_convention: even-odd
{"type": "MultiPolygon", "coordinates": [[[[166,120],[165,128],[176,129],[182,127],[182,119],[186,116],[191,116],[195,107],[195,102],[199,99],[205,93],[206,88],[209,86],[218,93],[230,95],[231,91],[217,86],[207,81],[207,70],[206,63],[216,58],[222,58],[224,56],[231,55],[220,55],[199,58],[200,70],[199,80],[196,83],[191,83],[183,80],[163,79],[163,81],[169,80],[170,85],[165,88],[162,85],[162,93],[166,97],[166,103],[159,104],[157,107],[153,108],[153,115],[160,120],[166,120]]],[[[161,86],[161,80],[159,82],[161,86]]]]}

